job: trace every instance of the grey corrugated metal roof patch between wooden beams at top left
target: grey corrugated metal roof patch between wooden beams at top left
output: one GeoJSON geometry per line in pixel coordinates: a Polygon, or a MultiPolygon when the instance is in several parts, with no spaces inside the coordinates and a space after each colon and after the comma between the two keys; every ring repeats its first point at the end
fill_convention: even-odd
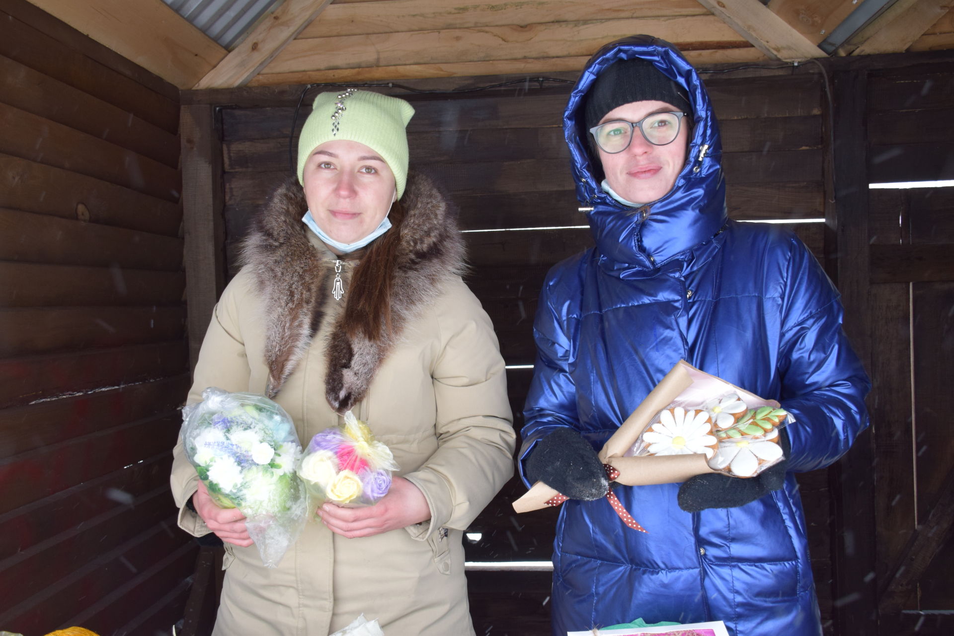
{"type": "Polygon", "coordinates": [[[282,0],[162,0],[225,49],[232,47],[282,0]]]}

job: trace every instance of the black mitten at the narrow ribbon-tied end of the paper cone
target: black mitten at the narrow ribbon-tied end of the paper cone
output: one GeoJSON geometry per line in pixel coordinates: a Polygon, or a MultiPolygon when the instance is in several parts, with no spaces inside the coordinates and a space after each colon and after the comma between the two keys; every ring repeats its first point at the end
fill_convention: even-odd
{"type": "Polygon", "coordinates": [[[530,482],[544,482],[570,499],[591,502],[610,490],[596,451],[570,428],[558,428],[538,441],[526,469],[530,482]]]}

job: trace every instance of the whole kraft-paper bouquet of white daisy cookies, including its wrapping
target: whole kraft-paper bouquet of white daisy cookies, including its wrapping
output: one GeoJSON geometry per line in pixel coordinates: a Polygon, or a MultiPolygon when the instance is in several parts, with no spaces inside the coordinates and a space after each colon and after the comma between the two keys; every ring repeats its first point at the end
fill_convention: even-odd
{"type": "MultiPolygon", "coordinates": [[[[599,458],[623,485],[685,482],[716,472],[752,477],[782,459],[778,428],[794,420],[778,406],[679,360],[606,441],[599,458]]],[[[528,512],[566,499],[536,482],[513,509],[528,512]]]]}

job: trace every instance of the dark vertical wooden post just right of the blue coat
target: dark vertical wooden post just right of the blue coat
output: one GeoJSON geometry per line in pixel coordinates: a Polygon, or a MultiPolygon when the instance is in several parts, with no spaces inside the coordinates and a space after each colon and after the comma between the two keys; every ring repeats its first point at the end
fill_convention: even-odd
{"type": "MultiPolygon", "coordinates": [[[[826,225],[837,239],[826,243],[826,261],[834,262],[829,275],[835,278],[845,309],[844,330],[854,343],[865,368],[871,368],[871,340],[866,320],[868,309],[868,174],[865,170],[867,72],[832,73],[833,123],[831,136],[834,193],[826,211],[826,225]]],[[[836,633],[874,633],[877,616],[870,608],[876,590],[870,573],[875,571],[875,484],[870,430],[862,432],[851,449],[830,469],[832,479],[833,598],[849,594],[852,603],[833,608],[836,633]]]]}

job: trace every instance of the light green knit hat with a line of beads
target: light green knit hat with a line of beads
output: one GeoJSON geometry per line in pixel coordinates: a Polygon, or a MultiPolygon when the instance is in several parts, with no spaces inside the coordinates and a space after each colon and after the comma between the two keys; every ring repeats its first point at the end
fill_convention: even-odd
{"type": "Polygon", "coordinates": [[[394,173],[398,198],[404,195],[408,154],[404,129],[414,115],[414,107],[397,97],[348,89],[319,93],[312,108],[299,137],[299,183],[305,161],[316,148],[325,141],[344,139],[381,154],[394,173]]]}

